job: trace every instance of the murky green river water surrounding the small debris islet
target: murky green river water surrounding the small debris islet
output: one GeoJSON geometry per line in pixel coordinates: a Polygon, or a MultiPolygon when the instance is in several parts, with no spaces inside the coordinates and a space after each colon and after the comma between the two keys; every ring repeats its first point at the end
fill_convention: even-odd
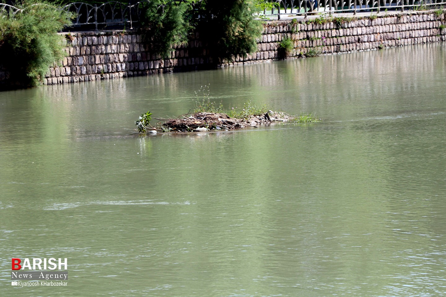
{"type": "Polygon", "coordinates": [[[2,296],[446,296],[441,44],[0,93],[2,296]],[[139,136],[209,85],[323,122],[139,136]],[[67,258],[66,287],[11,258],[67,258]]]}

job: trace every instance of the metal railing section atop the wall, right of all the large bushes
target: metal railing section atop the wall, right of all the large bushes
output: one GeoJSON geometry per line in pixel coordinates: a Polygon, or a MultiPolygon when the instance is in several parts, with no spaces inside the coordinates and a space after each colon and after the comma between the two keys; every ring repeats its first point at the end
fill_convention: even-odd
{"type": "Polygon", "coordinates": [[[318,13],[354,13],[409,11],[441,8],[446,0],[272,0],[275,8],[264,10],[260,15],[304,16],[318,13]],[[280,9],[279,9],[280,7],[280,9]]]}

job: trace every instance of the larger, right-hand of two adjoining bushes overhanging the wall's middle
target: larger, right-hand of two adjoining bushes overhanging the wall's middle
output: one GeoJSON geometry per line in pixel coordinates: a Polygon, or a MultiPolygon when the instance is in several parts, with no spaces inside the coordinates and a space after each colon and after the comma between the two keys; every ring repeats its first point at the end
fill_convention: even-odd
{"type": "Polygon", "coordinates": [[[205,0],[198,31],[215,57],[230,58],[257,50],[263,26],[255,20],[253,0],[205,0]]]}

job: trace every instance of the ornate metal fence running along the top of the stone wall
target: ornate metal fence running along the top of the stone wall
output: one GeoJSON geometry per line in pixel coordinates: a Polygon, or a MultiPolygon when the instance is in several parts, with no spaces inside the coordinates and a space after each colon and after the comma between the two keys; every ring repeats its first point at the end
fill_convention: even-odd
{"type": "MultiPolygon", "coordinates": [[[[60,9],[74,12],[74,27],[90,27],[98,30],[99,27],[119,26],[123,28],[128,25],[128,28],[132,29],[134,24],[139,22],[141,13],[150,2],[150,0],[142,0],[133,4],[131,2],[124,4],[119,1],[109,1],[99,6],[74,2],[60,9]]],[[[166,4],[160,4],[159,8],[162,8],[161,11],[164,11],[166,5],[176,5],[181,2],[186,2],[192,5],[192,10],[197,10],[202,0],[191,3],[186,0],[171,0],[166,4]]],[[[446,5],[446,0],[271,0],[271,2],[275,4],[275,8],[269,11],[258,12],[256,15],[281,19],[281,16],[307,17],[309,14],[321,12],[329,13],[330,15],[341,12],[356,14],[357,12],[381,12],[384,10],[404,12],[405,10],[433,9],[446,5]]],[[[0,4],[0,15],[4,13],[15,15],[17,12],[22,11],[23,9],[12,5],[0,4]]]]}

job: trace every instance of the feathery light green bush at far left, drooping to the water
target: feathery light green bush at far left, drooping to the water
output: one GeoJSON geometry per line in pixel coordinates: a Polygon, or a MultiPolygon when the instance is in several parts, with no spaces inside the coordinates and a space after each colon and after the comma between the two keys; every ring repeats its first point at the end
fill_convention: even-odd
{"type": "Polygon", "coordinates": [[[1,63],[11,81],[37,85],[48,68],[66,55],[65,37],[57,33],[71,24],[71,15],[41,0],[24,0],[15,6],[22,9],[15,15],[0,13],[1,63]]]}

